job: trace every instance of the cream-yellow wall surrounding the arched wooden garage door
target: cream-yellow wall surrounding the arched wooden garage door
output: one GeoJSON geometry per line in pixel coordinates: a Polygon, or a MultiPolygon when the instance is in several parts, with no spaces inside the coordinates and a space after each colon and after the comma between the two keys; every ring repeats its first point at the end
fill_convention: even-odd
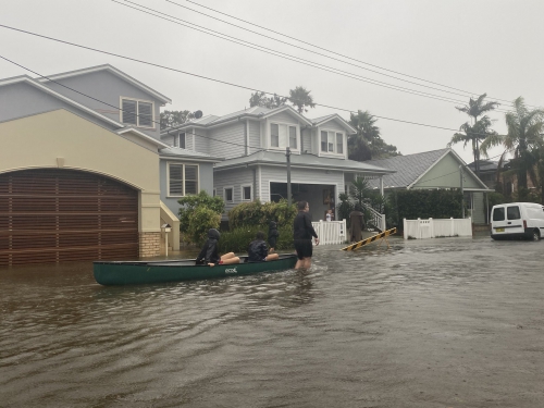
{"type": "Polygon", "coordinates": [[[0,173],[59,168],[139,190],[139,231],[160,232],[159,154],[66,110],[0,123],[0,173]],[[58,158],[63,160],[58,160],[58,158]]]}

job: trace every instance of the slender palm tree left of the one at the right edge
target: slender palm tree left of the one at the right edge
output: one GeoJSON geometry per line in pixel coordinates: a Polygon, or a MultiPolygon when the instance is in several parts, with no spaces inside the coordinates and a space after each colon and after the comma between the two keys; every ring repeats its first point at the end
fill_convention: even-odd
{"type": "Polygon", "coordinates": [[[477,99],[470,98],[469,104],[463,107],[455,107],[459,112],[465,112],[472,119],[472,123],[463,123],[459,129],[463,133],[456,133],[448,146],[455,145],[456,143],[463,141],[463,147],[470,141],[472,144],[472,153],[474,154],[474,169],[478,176],[480,176],[480,141],[484,140],[489,136],[493,136],[496,133],[491,131],[491,119],[484,115],[479,124],[478,118],[494,110],[499,103],[498,102],[484,102],[487,94],[480,95],[477,99]],[[483,131],[483,132],[482,132],[483,131]]]}

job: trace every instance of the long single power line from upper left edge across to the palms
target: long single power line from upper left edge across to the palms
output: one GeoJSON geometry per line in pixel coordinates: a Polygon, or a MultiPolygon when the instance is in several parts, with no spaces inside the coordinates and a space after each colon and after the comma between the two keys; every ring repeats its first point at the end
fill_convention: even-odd
{"type": "MultiPolygon", "coordinates": [[[[212,78],[212,77],[209,77],[209,76],[205,76],[205,75],[194,74],[194,73],[190,73],[190,72],[187,72],[187,71],[183,71],[183,70],[178,70],[178,69],[174,69],[174,67],[171,67],[171,66],[165,66],[165,65],[157,64],[157,63],[149,62],[149,61],[139,60],[139,59],[132,58],[132,57],[126,57],[126,55],[118,54],[118,53],[110,52],[110,51],[99,50],[97,48],[83,46],[83,45],[79,45],[79,44],[75,44],[75,42],[71,42],[71,41],[66,41],[66,40],[62,40],[62,39],[58,39],[58,38],[53,38],[53,37],[49,37],[49,36],[45,36],[45,35],[37,34],[37,33],[32,33],[32,32],[28,32],[28,30],[25,30],[25,29],[11,27],[11,26],[4,25],[4,24],[0,24],[0,27],[12,29],[12,30],[15,30],[15,32],[24,33],[24,34],[28,34],[28,35],[36,36],[36,37],[39,37],[39,38],[49,39],[51,41],[55,41],[55,42],[60,42],[60,44],[65,44],[65,45],[72,46],[72,47],[77,47],[77,48],[82,48],[82,49],[85,49],[85,50],[95,51],[95,52],[103,53],[103,54],[107,54],[107,55],[121,58],[121,59],[124,59],[124,60],[127,60],[127,61],[138,62],[138,63],[141,63],[141,64],[160,67],[162,70],[172,71],[172,72],[176,72],[176,73],[180,73],[180,74],[194,76],[194,77],[197,77],[197,78],[201,78],[201,79],[214,82],[214,83],[218,83],[218,84],[228,85],[228,86],[233,86],[233,87],[240,88],[240,89],[247,89],[247,90],[251,90],[251,91],[263,92],[265,95],[277,95],[281,98],[288,98],[286,96],[279,95],[276,92],[265,91],[265,90],[262,90],[262,89],[257,89],[257,88],[252,88],[252,87],[245,86],[245,85],[234,84],[234,83],[231,83],[231,82],[227,82],[227,81],[215,79],[215,78],[212,78]]],[[[351,109],[339,108],[339,107],[334,107],[334,106],[324,104],[324,103],[316,103],[316,106],[323,107],[323,108],[329,108],[329,109],[333,109],[333,110],[337,110],[337,111],[343,111],[343,112],[357,113],[357,111],[354,111],[351,109]]],[[[436,125],[429,125],[429,124],[425,124],[425,123],[405,121],[405,120],[401,120],[401,119],[380,116],[380,115],[376,115],[376,114],[372,114],[372,116],[378,118],[378,119],[383,119],[384,121],[406,123],[406,124],[411,124],[411,125],[416,125],[416,126],[430,127],[430,128],[436,128],[436,129],[442,129],[442,131],[458,132],[458,129],[456,129],[456,128],[444,127],[444,126],[436,126],[436,125]]],[[[486,134],[483,134],[483,133],[473,133],[473,134],[474,135],[487,136],[486,134]]]]}

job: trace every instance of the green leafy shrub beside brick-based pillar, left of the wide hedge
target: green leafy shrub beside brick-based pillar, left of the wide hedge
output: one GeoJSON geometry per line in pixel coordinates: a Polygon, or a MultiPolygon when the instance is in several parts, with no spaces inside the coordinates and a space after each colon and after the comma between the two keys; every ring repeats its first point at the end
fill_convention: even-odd
{"type": "Polygon", "coordinates": [[[199,227],[199,223],[201,220],[205,220],[205,214],[217,214],[219,218],[210,218],[212,222],[212,226],[209,226],[209,223],[205,223],[202,226],[205,232],[209,228],[217,228],[221,221],[221,214],[225,209],[225,203],[223,198],[215,196],[211,197],[205,190],[201,190],[199,194],[195,196],[186,196],[177,200],[182,208],[180,208],[180,231],[184,234],[183,238],[193,244],[199,244],[201,239],[201,228],[199,227]],[[207,209],[209,211],[200,211],[199,209],[207,209]],[[197,212],[197,210],[199,210],[197,212]],[[211,211],[211,212],[210,212],[211,211]],[[217,221],[215,223],[215,220],[217,221]]]}

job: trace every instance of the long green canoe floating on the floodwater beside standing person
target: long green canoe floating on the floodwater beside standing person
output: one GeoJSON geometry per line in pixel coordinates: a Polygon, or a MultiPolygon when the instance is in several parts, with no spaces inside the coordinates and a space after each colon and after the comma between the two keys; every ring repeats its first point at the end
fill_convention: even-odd
{"type": "Polygon", "coordinates": [[[95,280],[101,285],[136,285],[285,271],[295,267],[297,256],[295,254],[283,254],[275,261],[246,261],[247,257],[240,257],[240,263],[215,267],[195,265],[194,259],[151,262],[96,261],[92,262],[92,270],[95,280]]]}

